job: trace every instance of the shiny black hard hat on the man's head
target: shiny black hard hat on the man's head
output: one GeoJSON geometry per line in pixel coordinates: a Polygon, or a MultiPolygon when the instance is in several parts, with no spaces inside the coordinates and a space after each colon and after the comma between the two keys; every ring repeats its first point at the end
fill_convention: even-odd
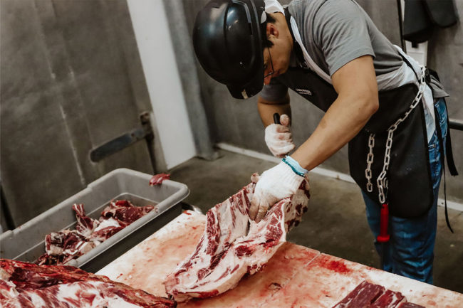
{"type": "Polygon", "coordinates": [[[262,90],[265,26],[264,0],[212,0],[196,16],[193,46],[199,63],[235,98],[262,90]]]}

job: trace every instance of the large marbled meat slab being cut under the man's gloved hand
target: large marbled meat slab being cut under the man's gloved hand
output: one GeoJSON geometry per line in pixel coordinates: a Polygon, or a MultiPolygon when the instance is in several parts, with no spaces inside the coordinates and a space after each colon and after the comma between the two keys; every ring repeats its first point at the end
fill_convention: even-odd
{"type": "Polygon", "coordinates": [[[179,302],[211,297],[235,287],[241,277],[259,271],[285,242],[286,233],[307,210],[308,183],[276,203],[259,223],[250,221],[249,207],[256,176],[226,201],[207,212],[196,250],[167,276],[167,294],[179,302]]]}

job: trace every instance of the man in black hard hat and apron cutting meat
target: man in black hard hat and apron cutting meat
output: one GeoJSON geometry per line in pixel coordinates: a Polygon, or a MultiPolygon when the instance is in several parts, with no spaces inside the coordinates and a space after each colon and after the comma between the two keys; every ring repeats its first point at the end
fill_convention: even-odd
{"type": "Polygon", "coordinates": [[[204,70],[232,96],[261,91],[266,143],[284,157],[261,175],[251,218],[263,218],[349,142],[350,174],[370,228],[387,241],[380,225],[389,227],[385,249],[375,243],[383,269],[432,283],[448,131],[447,93],[437,79],[393,46],[353,0],[293,0],[286,9],[276,0],[212,0],[197,16],[193,43],[204,70]],[[326,111],[290,156],[288,88],[326,111]],[[281,124],[274,124],[275,113],[281,124]]]}

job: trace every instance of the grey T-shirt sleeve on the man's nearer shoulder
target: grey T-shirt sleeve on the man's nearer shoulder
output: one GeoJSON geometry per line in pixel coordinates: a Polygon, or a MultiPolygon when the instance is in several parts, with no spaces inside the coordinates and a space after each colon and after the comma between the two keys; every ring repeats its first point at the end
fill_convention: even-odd
{"type": "Polygon", "coordinates": [[[343,65],[361,57],[375,57],[368,16],[352,0],[326,1],[313,21],[313,36],[332,76],[343,65]]]}

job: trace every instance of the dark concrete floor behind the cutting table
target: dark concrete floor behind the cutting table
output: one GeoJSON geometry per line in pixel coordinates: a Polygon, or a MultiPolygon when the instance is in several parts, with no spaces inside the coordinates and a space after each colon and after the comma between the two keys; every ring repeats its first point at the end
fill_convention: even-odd
{"type": "MultiPolygon", "coordinates": [[[[190,159],[171,170],[171,179],[187,184],[187,203],[206,213],[209,208],[236,193],[250,181],[254,172],[274,163],[221,150],[214,161],[190,159]]],[[[346,260],[379,267],[365,217],[360,188],[346,181],[318,174],[310,175],[309,209],[288,241],[346,260]]],[[[449,210],[454,233],[445,224],[444,208],[439,207],[435,248],[435,285],[463,293],[463,213],[449,210]]]]}

